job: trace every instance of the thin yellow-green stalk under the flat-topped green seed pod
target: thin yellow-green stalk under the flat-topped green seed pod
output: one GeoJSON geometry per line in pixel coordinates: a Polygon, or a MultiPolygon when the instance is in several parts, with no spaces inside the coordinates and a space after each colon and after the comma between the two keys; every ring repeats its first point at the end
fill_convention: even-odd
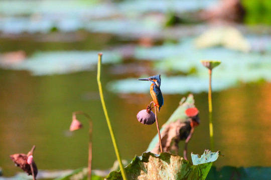
{"type": "Polygon", "coordinates": [[[214,151],[214,137],[213,137],[213,110],[212,110],[212,69],[209,69],[209,90],[208,90],[208,103],[209,103],[209,130],[210,130],[210,144],[211,151],[214,151]]]}

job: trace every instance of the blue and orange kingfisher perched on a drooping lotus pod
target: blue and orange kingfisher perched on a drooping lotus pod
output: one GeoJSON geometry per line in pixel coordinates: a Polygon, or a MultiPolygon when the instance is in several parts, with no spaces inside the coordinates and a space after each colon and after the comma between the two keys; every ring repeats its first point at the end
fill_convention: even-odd
{"type": "Polygon", "coordinates": [[[164,104],[164,98],[162,95],[162,92],[160,90],[160,85],[161,85],[161,75],[153,75],[148,78],[141,78],[138,80],[149,80],[152,82],[151,87],[150,87],[150,93],[153,97],[153,100],[155,102],[155,106],[158,108],[158,112],[160,111],[162,105],[164,104]]]}

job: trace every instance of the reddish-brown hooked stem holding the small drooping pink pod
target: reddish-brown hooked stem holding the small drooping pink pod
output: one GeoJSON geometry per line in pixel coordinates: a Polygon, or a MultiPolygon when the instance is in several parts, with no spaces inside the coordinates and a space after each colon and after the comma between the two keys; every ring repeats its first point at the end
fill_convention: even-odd
{"type": "Polygon", "coordinates": [[[76,114],[82,114],[85,117],[88,118],[88,164],[87,164],[87,169],[88,169],[88,173],[87,173],[87,179],[91,180],[91,164],[92,164],[92,119],[91,117],[83,112],[83,111],[75,111],[72,113],[73,116],[75,116],[76,114]]]}

